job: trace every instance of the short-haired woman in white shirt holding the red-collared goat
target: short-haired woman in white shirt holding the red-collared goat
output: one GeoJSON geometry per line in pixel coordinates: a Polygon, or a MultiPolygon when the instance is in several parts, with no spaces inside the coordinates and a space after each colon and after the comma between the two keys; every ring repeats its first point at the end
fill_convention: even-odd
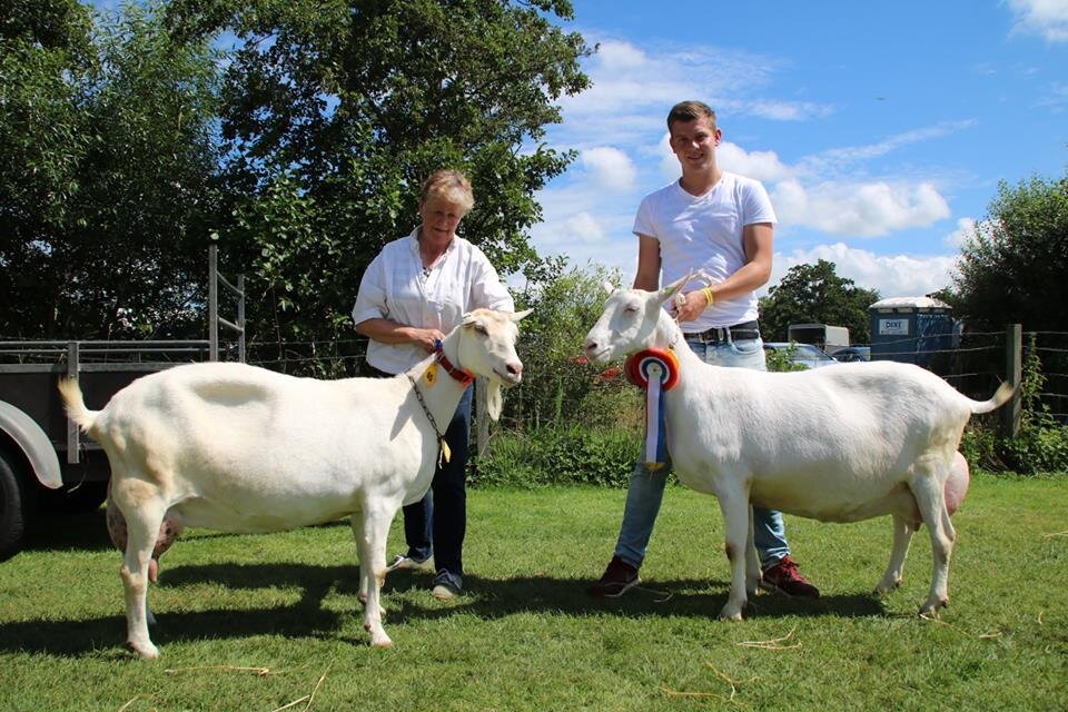
{"type": "MultiPolygon", "coordinates": [[[[486,256],[456,235],[473,205],[464,174],[435,172],[423,182],[422,224],[386,245],[364,273],[353,320],[356,330],[370,338],[367,364],[373,375],[393,376],[416,365],[472,309],[515,310],[486,256]]],[[[436,565],[432,593],[446,600],[463,590],[471,393],[468,388],[445,432],[452,457],[438,464],[426,496],[404,507],[408,551],[389,566],[393,571],[436,565]]]]}

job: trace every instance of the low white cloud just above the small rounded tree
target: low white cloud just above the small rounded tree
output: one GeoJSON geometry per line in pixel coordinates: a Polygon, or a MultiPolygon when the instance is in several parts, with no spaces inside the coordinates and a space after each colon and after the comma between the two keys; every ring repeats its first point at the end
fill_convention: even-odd
{"type": "MultiPolygon", "coordinates": [[[[777,254],[769,285],[778,284],[797,265],[834,263],[834,274],[852,279],[858,287],[877,289],[883,298],[919,297],[951,284],[955,256],[876,255],[844,243],[818,245],[789,255],[777,254]]],[[[767,289],[763,290],[767,293],[767,289]]]]}

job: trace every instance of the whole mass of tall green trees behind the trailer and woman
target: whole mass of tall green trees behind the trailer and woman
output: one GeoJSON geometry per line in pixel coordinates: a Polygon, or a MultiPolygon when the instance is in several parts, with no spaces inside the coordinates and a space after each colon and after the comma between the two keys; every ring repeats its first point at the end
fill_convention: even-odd
{"type": "Polygon", "coordinates": [[[465,237],[544,279],[534,194],[573,155],[541,139],[590,52],[553,16],[571,3],[3,4],[0,336],[202,334],[216,237],[254,339],[350,337],[364,267],[443,167],[473,179],[465,237]]]}

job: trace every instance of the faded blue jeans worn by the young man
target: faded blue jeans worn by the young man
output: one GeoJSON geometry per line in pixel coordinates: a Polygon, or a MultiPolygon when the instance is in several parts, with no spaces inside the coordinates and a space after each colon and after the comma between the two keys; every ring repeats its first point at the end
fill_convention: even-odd
{"type": "MultiPolygon", "coordinates": [[[[764,360],[764,344],[759,338],[719,344],[702,344],[688,338],[686,344],[708,364],[754,370],[768,369],[764,360]]],[[[615,555],[635,568],[641,568],[645,560],[645,550],[653,534],[653,524],[660,513],[660,504],[664,498],[664,484],[670,473],[670,461],[665,467],[656,472],[649,472],[644,463],[635,463],[631,473],[615,555]]],[[[782,514],[774,510],[753,507],[753,540],[763,568],[775,564],[790,553],[782,514]]]]}

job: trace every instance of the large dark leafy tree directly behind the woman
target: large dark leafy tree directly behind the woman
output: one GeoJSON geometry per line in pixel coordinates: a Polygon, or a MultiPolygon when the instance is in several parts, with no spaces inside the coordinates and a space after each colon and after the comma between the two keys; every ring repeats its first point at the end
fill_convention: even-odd
{"type": "MultiPolygon", "coordinates": [[[[419,182],[466,170],[462,234],[502,274],[540,278],[534,194],[572,154],[540,144],[555,101],[589,81],[564,0],[175,0],[186,36],[228,31],[222,136],[230,208],[218,231],[246,271],[249,329],[295,343],[352,337],[364,268],[417,221],[419,182]]],[[[230,269],[234,271],[234,269],[230,269]]]]}

